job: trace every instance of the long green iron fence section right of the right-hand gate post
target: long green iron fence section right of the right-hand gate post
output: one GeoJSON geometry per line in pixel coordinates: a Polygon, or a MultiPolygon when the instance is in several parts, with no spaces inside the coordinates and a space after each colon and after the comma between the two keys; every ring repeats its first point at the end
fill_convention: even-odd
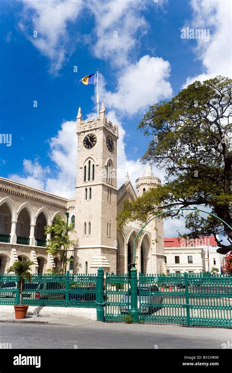
{"type": "Polygon", "coordinates": [[[140,320],[187,326],[232,326],[232,277],[139,274],[140,320]]]}

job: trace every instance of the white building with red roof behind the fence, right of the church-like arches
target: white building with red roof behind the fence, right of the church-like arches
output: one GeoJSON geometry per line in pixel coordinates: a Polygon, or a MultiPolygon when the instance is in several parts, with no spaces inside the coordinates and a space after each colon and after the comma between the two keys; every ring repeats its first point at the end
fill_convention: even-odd
{"type": "Polygon", "coordinates": [[[220,254],[216,252],[217,248],[214,237],[201,237],[196,240],[164,238],[166,271],[167,273],[199,273],[216,267],[220,273],[220,254]]]}

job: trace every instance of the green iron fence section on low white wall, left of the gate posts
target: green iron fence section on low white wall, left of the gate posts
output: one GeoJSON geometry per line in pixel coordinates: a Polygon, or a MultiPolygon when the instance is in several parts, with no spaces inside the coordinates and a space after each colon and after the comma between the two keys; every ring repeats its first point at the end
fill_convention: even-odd
{"type": "MultiPolygon", "coordinates": [[[[29,306],[96,307],[95,274],[32,275],[24,284],[23,304],[29,306]]],[[[0,305],[19,304],[19,278],[0,275],[0,305]]]]}

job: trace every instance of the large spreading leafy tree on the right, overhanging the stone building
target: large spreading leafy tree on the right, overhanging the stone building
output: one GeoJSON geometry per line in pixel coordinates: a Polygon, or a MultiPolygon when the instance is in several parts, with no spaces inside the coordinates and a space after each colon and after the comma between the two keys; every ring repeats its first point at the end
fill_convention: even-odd
{"type": "MultiPolygon", "coordinates": [[[[153,136],[142,161],[165,169],[165,184],[148,190],[134,203],[126,201],[119,227],[129,220],[146,221],[162,210],[205,206],[231,223],[232,80],[195,81],[169,102],[151,106],[139,129],[153,136]]],[[[180,218],[180,212],[168,216],[180,218]]],[[[213,235],[218,252],[232,250],[232,230],[209,216],[186,216],[188,236],[213,235]],[[227,237],[228,245],[217,235],[227,237]]]]}

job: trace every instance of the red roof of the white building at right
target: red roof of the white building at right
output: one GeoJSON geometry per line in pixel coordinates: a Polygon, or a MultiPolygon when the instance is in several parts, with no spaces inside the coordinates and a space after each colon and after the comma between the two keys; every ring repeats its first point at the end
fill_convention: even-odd
{"type": "MultiPolygon", "coordinates": [[[[195,247],[195,246],[207,246],[208,245],[208,237],[204,236],[200,239],[184,239],[178,237],[165,237],[164,238],[164,247],[195,247]]],[[[209,237],[209,246],[217,246],[217,242],[215,241],[213,236],[209,237]]]]}

